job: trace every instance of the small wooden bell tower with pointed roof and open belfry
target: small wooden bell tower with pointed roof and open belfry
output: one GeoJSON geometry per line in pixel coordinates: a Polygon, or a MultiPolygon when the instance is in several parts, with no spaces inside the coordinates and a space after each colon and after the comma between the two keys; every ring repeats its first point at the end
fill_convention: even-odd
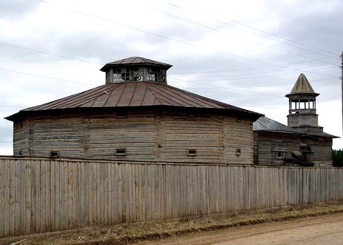
{"type": "Polygon", "coordinates": [[[306,76],[301,73],[294,84],[291,93],[285,95],[289,99],[288,126],[301,132],[322,132],[318,126],[316,113],[316,93],[306,76]]]}

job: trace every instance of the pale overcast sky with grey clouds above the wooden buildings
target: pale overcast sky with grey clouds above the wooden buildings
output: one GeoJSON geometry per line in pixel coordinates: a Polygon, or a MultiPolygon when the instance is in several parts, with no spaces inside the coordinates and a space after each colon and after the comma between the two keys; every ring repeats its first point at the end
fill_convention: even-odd
{"type": "Polygon", "coordinates": [[[342,0],[1,0],[0,155],[12,154],[3,117],[102,85],[102,65],[130,56],[174,65],[171,86],[283,124],[284,95],[305,73],[320,126],[342,137],[342,10],[342,0]]]}

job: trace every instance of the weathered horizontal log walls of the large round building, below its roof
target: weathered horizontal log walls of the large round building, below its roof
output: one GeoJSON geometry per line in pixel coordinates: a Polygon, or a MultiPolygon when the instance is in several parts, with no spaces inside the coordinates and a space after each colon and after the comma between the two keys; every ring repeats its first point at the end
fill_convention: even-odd
{"type": "Polygon", "coordinates": [[[14,155],[132,161],[252,164],[252,121],[233,116],[131,111],[36,116],[14,127],[14,155]],[[21,146],[20,146],[20,143],[21,146]],[[126,155],[116,155],[126,148],[126,155]],[[241,155],[236,155],[236,148],[241,155]],[[187,154],[195,149],[195,156],[187,154]]]}

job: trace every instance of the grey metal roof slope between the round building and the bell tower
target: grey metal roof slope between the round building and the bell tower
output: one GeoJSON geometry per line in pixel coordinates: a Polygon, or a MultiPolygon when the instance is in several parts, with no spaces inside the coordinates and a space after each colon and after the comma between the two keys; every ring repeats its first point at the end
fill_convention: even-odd
{"type": "Polygon", "coordinates": [[[288,132],[292,134],[303,134],[292,127],[286,126],[285,124],[274,121],[268,117],[262,116],[252,124],[252,130],[254,131],[268,131],[268,132],[288,132]]]}

